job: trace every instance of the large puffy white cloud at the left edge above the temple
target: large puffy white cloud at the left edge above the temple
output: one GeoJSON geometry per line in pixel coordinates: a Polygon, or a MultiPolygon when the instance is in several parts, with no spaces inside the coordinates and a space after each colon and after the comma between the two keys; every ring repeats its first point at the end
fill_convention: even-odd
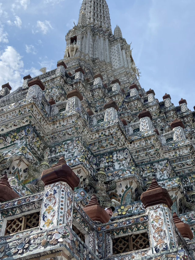
{"type": "Polygon", "coordinates": [[[20,87],[23,66],[20,54],[12,46],[7,46],[0,55],[0,85],[9,82],[13,90],[20,87]]]}

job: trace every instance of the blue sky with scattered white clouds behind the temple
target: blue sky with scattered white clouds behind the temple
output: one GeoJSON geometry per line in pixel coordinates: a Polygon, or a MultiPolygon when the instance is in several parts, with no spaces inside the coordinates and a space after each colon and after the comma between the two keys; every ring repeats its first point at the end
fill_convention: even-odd
{"type": "MultiPolygon", "coordinates": [[[[56,67],[65,36],[77,23],[80,0],[7,0],[0,3],[0,85],[21,86],[23,76],[56,67]]],[[[166,93],[174,105],[185,98],[193,110],[194,0],[107,0],[112,31],[118,24],[141,71],[140,84],[166,93]]]]}

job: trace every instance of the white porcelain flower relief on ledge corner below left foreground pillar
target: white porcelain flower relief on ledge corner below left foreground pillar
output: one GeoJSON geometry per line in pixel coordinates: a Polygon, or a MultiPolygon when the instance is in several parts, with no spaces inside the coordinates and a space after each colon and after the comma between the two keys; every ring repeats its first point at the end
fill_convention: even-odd
{"type": "Polygon", "coordinates": [[[55,231],[53,239],[49,241],[49,244],[57,244],[59,243],[71,243],[72,234],[70,233],[70,229],[67,226],[60,226],[57,231],[55,231]]]}

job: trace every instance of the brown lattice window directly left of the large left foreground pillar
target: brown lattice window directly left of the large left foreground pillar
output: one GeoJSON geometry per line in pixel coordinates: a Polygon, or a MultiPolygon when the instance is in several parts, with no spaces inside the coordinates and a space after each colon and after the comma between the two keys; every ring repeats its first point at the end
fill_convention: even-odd
{"type": "Polygon", "coordinates": [[[40,212],[34,212],[16,219],[10,219],[7,221],[5,235],[37,227],[39,226],[39,218],[40,212]]]}

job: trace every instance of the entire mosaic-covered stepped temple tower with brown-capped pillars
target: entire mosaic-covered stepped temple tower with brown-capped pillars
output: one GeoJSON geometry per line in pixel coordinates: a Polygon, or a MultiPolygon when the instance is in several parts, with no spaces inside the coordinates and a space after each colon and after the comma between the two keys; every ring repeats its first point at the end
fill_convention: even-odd
{"type": "Polygon", "coordinates": [[[0,259],[194,260],[195,111],[140,86],[105,0],[78,15],[55,69],[2,85],[0,259]]]}

